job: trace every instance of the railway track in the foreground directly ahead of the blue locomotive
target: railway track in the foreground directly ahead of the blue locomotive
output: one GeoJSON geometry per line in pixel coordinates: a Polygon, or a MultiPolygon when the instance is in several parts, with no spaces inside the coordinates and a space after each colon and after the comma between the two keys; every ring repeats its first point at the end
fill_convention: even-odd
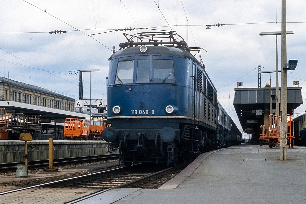
{"type": "MultiPolygon", "coordinates": [[[[139,184],[146,182],[154,177],[160,176],[163,173],[174,169],[174,168],[185,168],[189,164],[181,164],[176,167],[164,168],[155,166],[155,169],[152,170],[152,167],[145,167],[144,164],[132,165],[132,167],[121,167],[117,169],[111,169],[103,172],[96,172],[92,174],[87,174],[83,176],[77,176],[73,178],[53,181],[46,184],[39,184],[35,186],[20,188],[12,191],[6,191],[0,193],[0,195],[13,193],[17,191],[22,191],[30,188],[37,187],[54,187],[54,188],[98,188],[101,191],[96,192],[93,195],[103,193],[110,189],[114,188],[132,188],[136,187],[139,184]],[[144,167],[143,167],[144,166],[144,167]]],[[[89,196],[93,196],[89,195],[89,196]]],[[[87,198],[87,197],[84,197],[87,198]]],[[[83,199],[83,198],[82,198],[83,199]]]]}

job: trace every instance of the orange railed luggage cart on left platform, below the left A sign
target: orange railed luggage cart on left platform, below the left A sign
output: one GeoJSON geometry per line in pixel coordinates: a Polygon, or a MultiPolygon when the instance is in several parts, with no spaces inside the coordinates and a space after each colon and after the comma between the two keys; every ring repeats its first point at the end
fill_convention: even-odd
{"type": "Polygon", "coordinates": [[[86,120],[77,118],[66,118],[64,123],[64,136],[66,139],[88,140],[88,123],[86,120]]]}

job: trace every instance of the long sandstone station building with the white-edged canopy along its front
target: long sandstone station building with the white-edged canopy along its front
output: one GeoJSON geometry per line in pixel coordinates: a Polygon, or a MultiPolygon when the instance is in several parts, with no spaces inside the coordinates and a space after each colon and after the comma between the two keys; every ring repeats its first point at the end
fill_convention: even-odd
{"type": "Polygon", "coordinates": [[[63,138],[66,118],[88,117],[76,112],[74,98],[4,77],[0,77],[0,108],[6,113],[41,115],[41,134],[53,134],[55,139],[63,138]]]}

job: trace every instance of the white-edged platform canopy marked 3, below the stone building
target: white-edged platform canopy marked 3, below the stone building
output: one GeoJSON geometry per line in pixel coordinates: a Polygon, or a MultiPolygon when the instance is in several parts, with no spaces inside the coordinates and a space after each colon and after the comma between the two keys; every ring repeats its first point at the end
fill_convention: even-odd
{"type": "Polygon", "coordinates": [[[23,113],[24,115],[41,115],[42,122],[55,120],[64,122],[66,118],[88,118],[87,114],[76,113],[67,110],[48,108],[44,106],[35,106],[32,104],[21,103],[16,101],[0,101],[0,107],[6,109],[6,113],[23,113]]]}

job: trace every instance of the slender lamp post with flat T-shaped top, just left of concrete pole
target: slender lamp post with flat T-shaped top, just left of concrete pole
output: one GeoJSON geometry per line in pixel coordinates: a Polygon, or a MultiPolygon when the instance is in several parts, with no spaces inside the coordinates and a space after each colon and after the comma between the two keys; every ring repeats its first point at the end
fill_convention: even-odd
{"type": "MultiPolygon", "coordinates": [[[[275,72],[277,73],[276,74],[276,115],[279,116],[279,90],[278,90],[278,51],[277,51],[277,35],[281,35],[282,32],[281,31],[276,31],[276,32],[260,32],[259,35],[275,35],[275,41],[276,41],[276,44],[275,44],[275,62],[276,62],[276,69],[275,69],[275,72]]],[[[290,35],[290,34],[293,34],[293,31],[286,31],[286,35],[290,35]]],[[[261,73],[264,73],[264,72],[261,72],[261,73]]],[[[267,72],[265,72],[267,73],[267,72]]],[[[271,72],[269,72],[271,73],[271,72]]],[[[271,86],[271,83],[270,83],[270,86],[271,86]]]]}

